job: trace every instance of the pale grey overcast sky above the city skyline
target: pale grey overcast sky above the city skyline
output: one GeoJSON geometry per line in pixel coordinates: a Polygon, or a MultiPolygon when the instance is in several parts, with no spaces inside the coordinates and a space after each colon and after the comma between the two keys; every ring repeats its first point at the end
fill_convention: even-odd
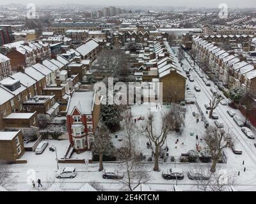
{"type": "Polygon", "coordinates": [[[94,4],[94,5],[141,5],[141,6],[188,6],[188,7],[211,7],[218,8],[220,3],[226,3],[230,8],[252,8],[256,7],[255,0],[0,0],[0,4],[20,3],[20,4],[94,4]]]}

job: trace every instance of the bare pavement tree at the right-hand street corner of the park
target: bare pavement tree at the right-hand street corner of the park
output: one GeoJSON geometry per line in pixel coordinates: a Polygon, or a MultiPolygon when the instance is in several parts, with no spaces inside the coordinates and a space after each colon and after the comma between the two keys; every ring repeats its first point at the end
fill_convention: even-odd
{"type": "Polygon", "coordinates": [[[221,158],[224,149],[232,147],[232,140],[225,140],[225,131],[209,126],[205,131],[204,140],[212,157],[211,172],[216,171],[216,165],[221,158]]]}

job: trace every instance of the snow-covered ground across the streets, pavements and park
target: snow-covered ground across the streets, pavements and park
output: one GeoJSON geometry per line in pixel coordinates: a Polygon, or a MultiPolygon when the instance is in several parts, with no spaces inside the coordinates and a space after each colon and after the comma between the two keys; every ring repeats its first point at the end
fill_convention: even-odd
{"type": "MultiPolygon", "coordinates": [[[[177,48],[175,48],[177,49],[177,48]]],[[[172,50],[170,49],[172,52],[172,50]]],[[[174,55],[174,54],[173,54],[174,55]]],[[[177,59],[175,59],[177,62],[177,59]]],[[[190,67],[189,63],[184,60],[184,65],[190,67]]],[[[177,63],[177,66],[180,66],[177,63]]],[[[198,68],[196,66],[196,68],[198,68]]],[[[182,70],[182,69],[181,69],[182,70]]],[[[195,82],[189,82],[187,80],[187,84],[189,88],[193,91],[194,85],[198,85],[201,89],[201,92],[195,92],[196,101],[200,108],[205,112],[205,103],[209,103],[211,99],[211,87],[214,86],[213,82],[211,82],[211,87],[206,87],[204,82],[200,77],[198,77],[195,71],[191,72],[191,75],[195,78],[195,82]]],[[[156,115],[156,122],[161,126],[160,116],[164,110],[167,110],[168,106],[163,106],[158,110],[156,105],[134,105],[132,106],[132,115],[134,119],[138,119],[141,116],[147,116],[149,112],[154,112],[156,115]]],[[[166,145],[169,147],[169,155],[175,156],[175,158],[179,158],[180,154],[187,153],[188,150],[195,149],[196,144],[196,135],[198,138],[202,138],[204,135],[204,123],[199,121],[196,123],[195,117],[193,117],[192,112],[198,112],[196,105],[186,105],[186,119],[185,119],[185,129],[181,135],[177,133],[170,133],[166,140],[166,145]],[[193,136],[190,133],[194,133],[193,136]],[[175,141],[179,138],[179,143],[175,144],[175,141]],[[182,145],[182,142],[184,145],[182,145]],[[175,147],[177,146],[177,149],[175,147]]],[[[227,110],[232,110],[236,112],[241,118],[243,115],[239,112],[239,110],[234,110],[229,106],[219,105],[216,108],[216,112],[218,113],[220,119],[225,125],[225,130],[232,132],[232,135],[236,138],[237,142],[241,145],[243,154],[236,155],[232,152],[232,150],[227,149],[226,155],[228,157],[227,164],[218,164],[218,170],[227,170],[232,175],[238,175],[236,177],[236,189],[238,191],[256,191],[256,148],[253,146],[255,140],[250,140],[246,138],[246,136],[242,133],[241,128],[239,128],[234,120],[229,117],[227,114],[227,110]],[[244,164],[243,164],[244,163],[244,164]],[[244,172],[244,168],[246,171],[244,172]]],[[[206,113],[205,116],[207,117],[206,113]]],[[[213,122],[212,119],[207,119],[210,123],[213,122]]],[[[144,155],[151,155],[151,150],[147,149],[147,138],[141,133],[140,126],[143,125],[145,120],[136,120],[136,134],[133,135],[134,143],[136,145],[136,149],[138,152],[142,152],[144,155]]],[[[112,134],[112,140],[115,146],[122,147],[122,140],[125,136],[124,129],[118,131],[118,133],[112,134]],[[118,135],[118,138],[115,138],[115,135],[118,135]]],[[[58,157],[60,158],[63,154],[64,150],[68,145],[68,140],[54,141],[49,140],[49,145],[54,145],[57,147],[58,157]]],[[[204,148],[204,144],[202,144],[204,148]]],[[[86,154],[74,154],[72,158],[88,158],[89,153],[86,154]]],[[[61,189],[69,190],[69,191],[77,191],[84,184],[90,182],[97,182],[101,184],[106,191],[118,191],[121,187],[120,183],[116,180],[106,180],[102,179],[102,172],[98,171],[99,164],[59,164],[60,168],[64,168],[65,166],[74,166],[77,169],[77,177],[74,179],[55,179],[56,171],[57,171],[57,163],[56,163],[56,155],[55,152],[50,152],[49,149],[45,149],[45,152],[41,155],[35,155],[35,152],[26,152],[22,159],[27,159],[27,164],[12,164],[10,165],[11,170],[13,171],[13,175],[17,177],[17,182],[13,186],[6,186],[5,188],[10,191],[38,191],[38,190],[47,190],[52,186],[53,183],[58,184],[61,189]],[[27,184],[27,179],[31,177],[31,171],[35,170],[35,179],[41,179],[43,189],[35,188],[33,189],[30,182],[27,184]]],[[[118,168],[118,163],[104,163],[104,168],[118,168]]],[[[175,180],[164,180],[161,177],[161,171],[155,172],[152,171],[153,165],[152,163],[144,164],[145,168],[150,175],[150,180],[147,185],[152,188],[152,190],[157,191],[167,191],[170,189],[170,184],[176,184],[175,180]]],[[[198,168],[198,166],[203,166],[204,168],[209,168],[209,164],[205,163],[160,163],[159,167],[161,170],[166,170],[166,168],[182,168],[185,174],[184,180],[179,180],[178,185],[179,188],[183,191],[194,191],[195,182],[193,180],[189,180],[186,176],[186,173],[193,169],[198,168]]]]}

